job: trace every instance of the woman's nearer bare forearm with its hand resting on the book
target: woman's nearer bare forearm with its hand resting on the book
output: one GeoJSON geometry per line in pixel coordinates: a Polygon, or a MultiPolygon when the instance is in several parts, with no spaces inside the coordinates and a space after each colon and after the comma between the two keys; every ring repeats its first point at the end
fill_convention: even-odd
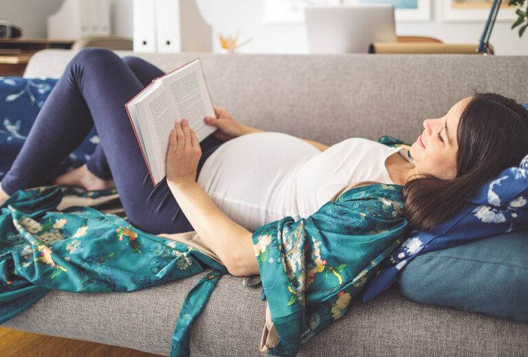
{"type": "Polygon", "coordinates": [[[252,233],[226,216],[196,183],[201,150],[195,133],[183,119],[170,133],[167,184],[192,227],[232,275],[259,274],[252,233]]]}

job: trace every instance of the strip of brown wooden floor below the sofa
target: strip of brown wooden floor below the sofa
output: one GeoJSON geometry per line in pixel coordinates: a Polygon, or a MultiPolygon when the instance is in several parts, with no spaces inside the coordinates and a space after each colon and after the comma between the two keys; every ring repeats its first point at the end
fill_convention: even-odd
{"type": "Polygon", "coordinates": [[[135,349],[32,334],[0,327],[2,357],[161,357],[135,349]]]}

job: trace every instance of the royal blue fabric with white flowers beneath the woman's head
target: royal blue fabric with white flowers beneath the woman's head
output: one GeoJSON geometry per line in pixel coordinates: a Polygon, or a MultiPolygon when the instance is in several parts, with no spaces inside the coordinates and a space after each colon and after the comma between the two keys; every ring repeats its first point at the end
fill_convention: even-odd
{"type": "Polygon", "coordinates": [[[523,229],[528,229],[528,156],[478,189],[447,222],[431,231],[411,231],[364,290],[363,301],[394,284],[401,269],[420,254],[523,229]]]}

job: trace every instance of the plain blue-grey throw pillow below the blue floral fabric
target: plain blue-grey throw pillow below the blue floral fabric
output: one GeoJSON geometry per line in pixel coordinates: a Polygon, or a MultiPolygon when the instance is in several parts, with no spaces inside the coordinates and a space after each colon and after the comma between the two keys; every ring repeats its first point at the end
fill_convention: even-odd
{"type": "Polygon", "coordinates": [[[528,322],[528,231],[415,257],[398,277],[408,299],[528,322]]]}

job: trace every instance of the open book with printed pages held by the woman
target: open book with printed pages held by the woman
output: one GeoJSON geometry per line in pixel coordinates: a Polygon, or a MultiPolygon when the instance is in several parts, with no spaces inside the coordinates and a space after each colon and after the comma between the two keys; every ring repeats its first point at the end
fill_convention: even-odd
{"type": "Polygon", "coordinates": [[[154,185],[165,177],[168,139],[176,121],[187,119],[199,141],[216,130],[203,122],[215,115],[199,58],[155,78],[125,106],[154,185]]]}

